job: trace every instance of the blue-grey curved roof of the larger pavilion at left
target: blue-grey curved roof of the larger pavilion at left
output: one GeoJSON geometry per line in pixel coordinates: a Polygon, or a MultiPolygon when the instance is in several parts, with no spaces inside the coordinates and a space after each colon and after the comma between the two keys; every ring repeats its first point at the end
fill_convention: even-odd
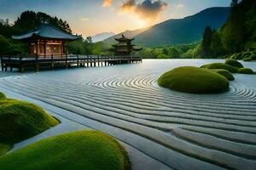
{"type": "Polygon", "coordinates": [[[81,38],[81,36],[74,36],[72,34],[68,34],[64,31],[61,31],[54,26],[50,26],[49,24],[42,24],[38,28],[32,31],[26,32],[26,34],[20,36],[13,36],[12,38],[15,40],[27,40],[32,37],[41,37],[43,39],[56,39],[56,40],[68,40],[73,41],[81,38]]]}

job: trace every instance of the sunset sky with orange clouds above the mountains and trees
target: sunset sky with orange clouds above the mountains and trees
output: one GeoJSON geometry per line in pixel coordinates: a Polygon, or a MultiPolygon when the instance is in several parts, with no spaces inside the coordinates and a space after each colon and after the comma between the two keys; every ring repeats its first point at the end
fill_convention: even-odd
{"type": "Polygon", "coordinates": [[[231,0],[0,0],[0,19],[14,22],[25,10],[67,20],[84,37],[102,32],[136,30],[164,20],[227,7],[231,0]]]}

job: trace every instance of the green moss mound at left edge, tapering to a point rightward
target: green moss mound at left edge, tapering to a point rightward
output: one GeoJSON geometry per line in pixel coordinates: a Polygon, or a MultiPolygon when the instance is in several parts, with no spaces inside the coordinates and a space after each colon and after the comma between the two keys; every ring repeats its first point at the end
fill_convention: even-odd
{"type": "Polygon", "coordinates": [[[15,99],[0,100],[0,143],[15,144],[58,122],[42,108],[15,99]]]}

